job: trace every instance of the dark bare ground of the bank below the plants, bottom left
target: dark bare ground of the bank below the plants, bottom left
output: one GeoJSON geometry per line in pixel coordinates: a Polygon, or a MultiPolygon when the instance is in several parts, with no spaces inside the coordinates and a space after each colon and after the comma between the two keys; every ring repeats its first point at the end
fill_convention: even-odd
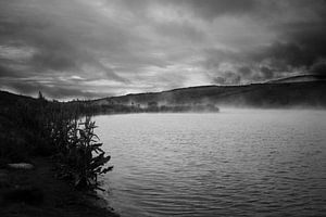
{"type": "Polygon", "coordinates": [[[96,192],[78,191],[55,178],[50,157],[32,158],[30,163],[34,169],[0,169],[0,216],[120,216],[96,192]],[[15,197],[18,191],[24,195],[15,197]]]}

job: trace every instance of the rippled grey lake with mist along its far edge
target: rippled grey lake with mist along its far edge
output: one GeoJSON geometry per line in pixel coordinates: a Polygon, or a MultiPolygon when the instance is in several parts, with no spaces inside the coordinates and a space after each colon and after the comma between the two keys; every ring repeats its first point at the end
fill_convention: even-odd
{"type": "Polygon", "coordinates": [[[97,116],[122,217],[325,216],[326,112],[97,116]]]}

